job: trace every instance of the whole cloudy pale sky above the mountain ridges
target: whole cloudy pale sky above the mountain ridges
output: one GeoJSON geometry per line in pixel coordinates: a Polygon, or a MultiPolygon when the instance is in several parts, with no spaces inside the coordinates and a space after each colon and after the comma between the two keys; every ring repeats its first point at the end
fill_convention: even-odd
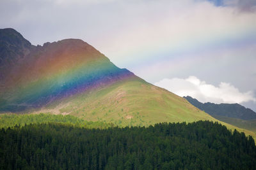
{"type": "Polygon", "coordinates": [[[255,0],[1,0],[6,27],[33,45],[83,39],[179,96],[256,111],[255,0]]]}

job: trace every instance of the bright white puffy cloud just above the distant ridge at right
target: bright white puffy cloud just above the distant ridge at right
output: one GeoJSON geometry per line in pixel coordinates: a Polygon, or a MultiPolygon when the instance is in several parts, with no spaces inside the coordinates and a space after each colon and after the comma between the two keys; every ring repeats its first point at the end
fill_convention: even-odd
{"type": "Polygon", "coordinates": [[[245,103],[248,101],[256,102],[253,92],[240,92],[239,89],[230,83],[221,82],[218,87],[199,80],[196,76],[188,78],[164,78],[154,85],[163,87],[177,94],[178,96],[195,97],[201,102],[212,103],[245,103]]]}

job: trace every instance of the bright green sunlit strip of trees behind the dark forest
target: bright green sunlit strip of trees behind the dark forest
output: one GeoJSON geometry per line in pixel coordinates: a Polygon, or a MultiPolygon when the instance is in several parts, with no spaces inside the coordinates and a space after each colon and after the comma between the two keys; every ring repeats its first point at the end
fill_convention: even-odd
{"type": "Polygon", "coordinates": [[[100,128],[105,129],[108,127],[113,127],[114,124],[104,123],[104,122],[88,122],[78,117],[72,115],[52,115],[52,114],[2,114],[0,115],[0,128],[8,128],[19,126],[22,127],[28,124],[42,124],[42,123],[64,123],[75,125],[77,127],[86,128],[100,128]]]}

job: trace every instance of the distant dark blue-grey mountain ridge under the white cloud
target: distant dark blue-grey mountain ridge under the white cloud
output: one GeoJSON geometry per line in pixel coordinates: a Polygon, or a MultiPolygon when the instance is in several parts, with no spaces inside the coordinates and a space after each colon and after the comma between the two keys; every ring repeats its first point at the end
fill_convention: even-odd
{"type": "Polygon", "coordinates": [[[256,113],[249,108],[244,108],[240,104],[214,104],[214,103],[200,103],[198,100],[187,96],[184,97],[193,104],[196,108],[209,113],[210,115],[218,115],[221,117],[239,118],[242,120],[256,119],[256,113]]]}

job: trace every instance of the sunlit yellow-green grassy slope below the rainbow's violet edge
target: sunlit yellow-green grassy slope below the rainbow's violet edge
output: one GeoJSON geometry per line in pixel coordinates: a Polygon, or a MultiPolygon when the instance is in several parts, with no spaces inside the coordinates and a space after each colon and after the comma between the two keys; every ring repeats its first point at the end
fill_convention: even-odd
{"type": "Polygon", "coordinates": [[[57,106],[56,113],[74,115],[87,121],[111,122],[121,127],[210,120],[256,137],[254,132],[221,122],[198,110],[186,99],[138,78],[94,89],[62,103],[68,104],[61,108],[57,106]]]}

